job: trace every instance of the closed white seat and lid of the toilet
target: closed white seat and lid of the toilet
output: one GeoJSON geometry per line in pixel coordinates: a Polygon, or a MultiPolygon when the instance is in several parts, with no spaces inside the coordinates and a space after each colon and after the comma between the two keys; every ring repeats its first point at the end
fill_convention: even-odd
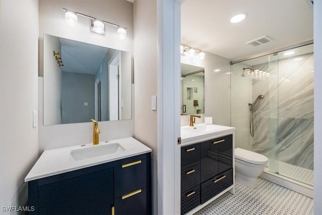
{"type": "Polygon", "coordinates": [[[261,154],[258,154],[256,152],[251,152],[248,150],[236,148],[234,150],[235,158],[251,163],[251,164],[259,164],[259,165],[265,165],[268,161],[268,159],[261,154]]]}

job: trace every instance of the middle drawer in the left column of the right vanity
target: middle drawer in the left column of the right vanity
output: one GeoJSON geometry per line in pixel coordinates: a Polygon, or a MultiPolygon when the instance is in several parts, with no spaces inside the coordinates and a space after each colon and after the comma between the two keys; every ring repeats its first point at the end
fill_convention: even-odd
{"type": "Polygon", "coordinates": [[[200,184],[200,164],[181,170],[181,192],[200,184]]]}

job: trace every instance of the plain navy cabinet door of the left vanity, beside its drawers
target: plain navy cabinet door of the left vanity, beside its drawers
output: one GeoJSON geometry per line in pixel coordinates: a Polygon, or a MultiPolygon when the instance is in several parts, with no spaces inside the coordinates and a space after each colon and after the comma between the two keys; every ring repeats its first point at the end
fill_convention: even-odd
{"type": "Polygon", "coordinates": [[[113,168],[39,186],[39,214],[111,214],[113,168]]]}

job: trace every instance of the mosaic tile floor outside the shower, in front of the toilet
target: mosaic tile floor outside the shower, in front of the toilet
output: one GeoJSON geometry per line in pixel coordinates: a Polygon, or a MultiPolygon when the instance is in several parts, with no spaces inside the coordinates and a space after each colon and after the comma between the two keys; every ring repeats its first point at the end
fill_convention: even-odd
{"type": "Polygon", "coordinates": [[[313,199],[259,178],[257,189],[236,182],[235,194],[226,192],[195,214],[313,214],[313,199]]]}

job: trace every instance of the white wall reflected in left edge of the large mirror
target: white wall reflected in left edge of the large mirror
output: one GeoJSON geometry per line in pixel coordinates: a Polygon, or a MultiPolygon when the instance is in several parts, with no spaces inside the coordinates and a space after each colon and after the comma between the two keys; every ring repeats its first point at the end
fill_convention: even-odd
{"type": "Polygon", "coordinates": [[[48,65],[47,77],[45,80],[44,91],[47,96],[44,99],[44,106],[47,107],[44,111],[45,124],[60,124],[61,123],[61,83],[62,74],[61,67],[58,66],[55,56],[61,56],[61,44],[58,37],[45,35],[46,45],[44,46],[44,64],[48,65]],[[53,55],[53,51],[60,55],[53,55]],[[47,92],[46,92],[47,91],[47,92]]]}

